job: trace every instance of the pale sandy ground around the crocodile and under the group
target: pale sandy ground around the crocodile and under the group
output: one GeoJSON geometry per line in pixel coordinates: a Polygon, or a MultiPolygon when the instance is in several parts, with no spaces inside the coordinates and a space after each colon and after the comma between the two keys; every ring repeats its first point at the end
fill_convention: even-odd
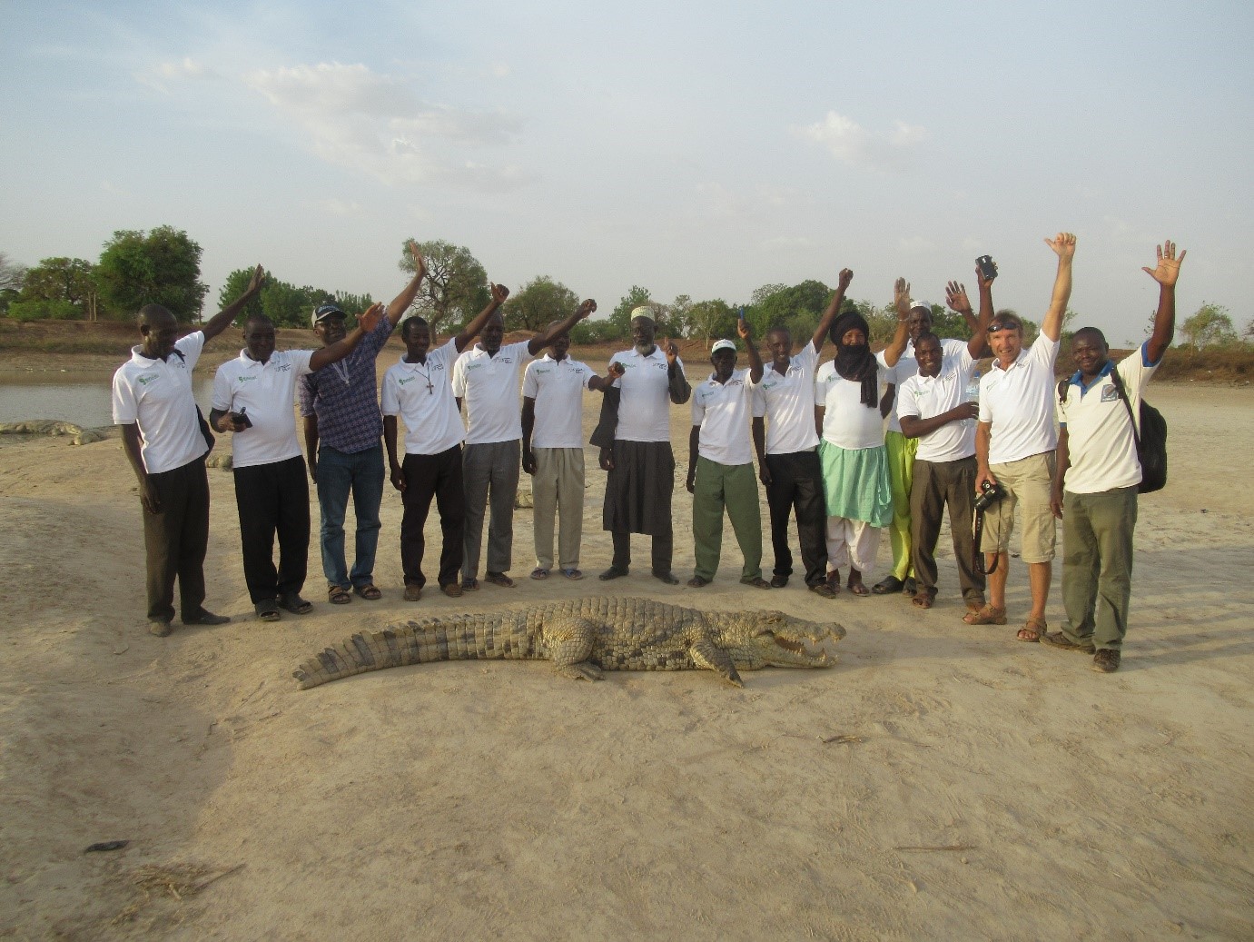
{"type": "MultiPolygon", "coordinates": [[[[234,621],[155,638],[118,443],[0,443],[0,937],[1251,938],[1254,390],[1151,399],[1172,482],[1141,503],[1112,676],[1014,640],[1018,561],[1002,628],[959,621],[948,553],[930,612],[741,587],[730,527],[711,588],[650,578],[641,538],[637,571],[601,583],[594,460],[588,579],[525,578],[520,509],[518,588],[405,603],[389,490],[384,600],[326,605],[315,547],[314,613],[273,625],[252,617],[231,475],[213,470],[208,605],[234,621]],[[543,662],[303,692],[291,677],[391,620],[611,591],[849,633],[831,670],[744,690],[700,671],[576,682],[543,662]],[[84,853],[115,839],[130,843],[84,853]]],[[[672,419],[682,482],[686,408],[672,419]]],[[[682,485],[675,508],[687,576],[682,485]]]]}

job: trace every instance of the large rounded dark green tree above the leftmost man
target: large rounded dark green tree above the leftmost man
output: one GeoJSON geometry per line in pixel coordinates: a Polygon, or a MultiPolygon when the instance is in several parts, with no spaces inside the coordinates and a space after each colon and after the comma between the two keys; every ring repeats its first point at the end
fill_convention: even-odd
{"type": "Polygon", "coordinates": [[[97,266],[100,300],[115,317],[159,304],[179,321],[199,316],[208,285],[201,281],[201,247],[186,232],[119,230],[104,243],[97,266]]]}

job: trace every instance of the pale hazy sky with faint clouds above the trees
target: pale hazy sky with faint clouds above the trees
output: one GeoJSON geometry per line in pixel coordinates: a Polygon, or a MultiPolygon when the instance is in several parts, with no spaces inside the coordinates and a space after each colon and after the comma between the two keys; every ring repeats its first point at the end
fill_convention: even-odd
{"type": "Polygon", "coordinates": [[[609,311],[854,270],[943,301],[1001,266],[1112,344],[1189,250],[1181,319],[1254,311],[1249,3],[0,0],[0,251],[95,261],[164,223],[232,268],[390,299],[406,237],[609,311]]]}

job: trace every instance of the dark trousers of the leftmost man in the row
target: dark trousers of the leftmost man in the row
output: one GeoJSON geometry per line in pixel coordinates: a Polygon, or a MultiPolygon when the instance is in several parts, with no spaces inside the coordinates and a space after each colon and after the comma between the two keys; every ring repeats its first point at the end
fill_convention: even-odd
{"type": "Polygon", "coordinates": [[[149,474],[161,513],[144,511],[148,618],[174,620],[174,579],[182,616],[194,618],[204,602],[204,549],[209,543],[209,479],[204,458],[149,474]]]}

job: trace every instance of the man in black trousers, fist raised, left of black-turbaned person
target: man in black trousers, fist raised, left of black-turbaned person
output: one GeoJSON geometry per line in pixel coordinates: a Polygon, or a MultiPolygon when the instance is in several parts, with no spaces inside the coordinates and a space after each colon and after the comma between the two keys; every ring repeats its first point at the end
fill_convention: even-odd
{"type": "Polygon", "coordinates": [[[819,352],[831,329],[854,273],[841,268],[831,302],[823,312],[814,336],[794,356],[788,327],[766,331],[771,361],[762,381],[754,385],[754,448],[766,485],[771,514],[771,547],[775,568],[771,586],[782,588],[793,574],[793,552],[788,544],[789,516],[796,516],[796,537],[805,567],[805,585],[824,598],[835,598],[828,586],[828,547],[824,537],[823,465],[819,464],[819,433],[814,421],[814,376],[819,352]],[[769,419],[769,424],[764,421],[769,419]]]}

